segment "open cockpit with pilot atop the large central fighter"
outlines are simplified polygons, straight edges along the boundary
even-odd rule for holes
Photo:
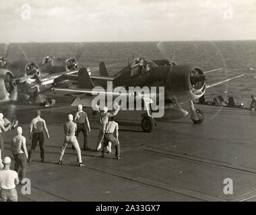
[[[130,62],[131,77],[141,73],[146,73],[153,67],[158,67],[158,65],[152,60],[148,60],[144,57],[136,58]]]

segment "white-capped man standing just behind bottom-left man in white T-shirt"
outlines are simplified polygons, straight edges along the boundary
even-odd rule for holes
[[[14,170],[21,175],[21,181],[26,177],[28,151],[26,138],[22,136],[22,127],[17,128],[17,134],[11,140],[11,150],[15,160]],[[20,174],[21,173],[21,174]]]

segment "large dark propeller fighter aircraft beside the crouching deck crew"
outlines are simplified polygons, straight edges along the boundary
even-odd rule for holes
[[[92,99],[95,97],[97,91],[93,90],[96,82],[102,83],[106,87],[106,81],[112,81],[113,87],[164,87],[164,117],[168,120],[176,120],[183,118],[188,114],[183,110],[181,103],[188,103],[191,111],[191,120],[195,124],[203,122],[203,112],[195,109],[193,101],[199,99],[204,95],[205,90],[216,85],[225,83],[232,79],[243,76],[230,77],[222,81],[210,83],[206,81],[206,74],[221,69],[213,69],[211,71],[203,72],[197,67],[190,65],[177,65],[170,60],[147,60],[146,58],[136,58],[129,62],[127,67],[119,71],[114,77],[108,76],[108,71],[104,62],[100,62],[100,76],[89,76],[86,69],[79,69],[77,80],[77,88],[75,89],[62,89],[53,88],[55,94],[71,95],[75,97],[72,105],[81,103],[86,107],[92,107]],[[75,77],[72,77],[73,80]],[[112,94],[114,92],[98,91],[99,94]],[[117,93],[118,94],[118,93]],[[136,97],[136,93],[127,93],[127,97]],[[147,95],[148,96],[148,95]],[[158,95],[154,95],[158,97]],[[156,126],[153,118],[152,109],[148,99],[144,99],[142,95],[141,100],[146,107],[146,114],[142,114],[141,127],[145,132],[151,132]]]

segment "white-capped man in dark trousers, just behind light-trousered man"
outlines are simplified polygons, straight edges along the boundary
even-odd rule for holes
[[[88,147],[88,132],[91,131],[90,129],[90,123],[88,120],[88,116],[86,112],[83,111],[83,106],[78,105],[77,106],[77,113],[75,114],[75,122],[77,123],[77,130],[75,132],[75,136],[79,136],[80,132],[83,132],[84,134],[84,150],[90,150]]]

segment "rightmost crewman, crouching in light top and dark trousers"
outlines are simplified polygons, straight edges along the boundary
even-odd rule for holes
[[[104,154],[106,151],[106,147],[108,146],[108,142],[112,142],[116,148],[116,158],[118,160],[122,159],[120,156],[120,143],[119,143],[119,125],[117,122],[113,121],[113,118],[110,118],[110,121],[106,124],[105,133],[104,133],[104,142],[102,149],[102,158],[104,158]],[[116,136],[116,137],[115,137]]]

